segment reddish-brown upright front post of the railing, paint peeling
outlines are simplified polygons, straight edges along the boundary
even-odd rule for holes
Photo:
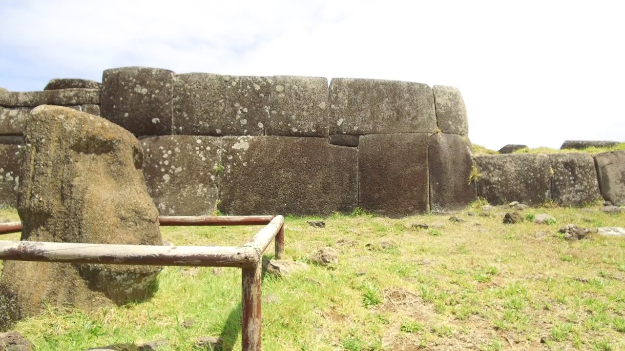
[[[243,320],[242,350],[261,351],[261,282],[262,265],[242,269]]]

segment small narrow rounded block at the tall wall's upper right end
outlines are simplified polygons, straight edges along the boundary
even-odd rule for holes
[[[469,121],[464,99],[456,87],[434,86],[434,106],[436,106],[436,123],[443,133],[469,134]]]

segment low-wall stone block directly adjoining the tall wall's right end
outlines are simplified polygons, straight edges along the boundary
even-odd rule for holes
[[[519,201],[540,205],[551,199],[551,162],[544,154],[475,157],[477,194],[493,205]]]

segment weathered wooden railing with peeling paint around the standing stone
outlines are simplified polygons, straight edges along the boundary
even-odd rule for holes
[[[284,256],[284,218],[277,216],[159,217],[161,225],[265,225],[239,247],[79,244],[0,240],[0,259],[83,264],[184,265],[242,269],[242,349],[261,350],[262,254],[273,240]],[[20,222],[0,224],[0,234],[19,232]]]

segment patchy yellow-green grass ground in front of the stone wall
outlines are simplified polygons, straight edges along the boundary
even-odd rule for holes
[[[528,218],[547,213],[557,221],[502,224],[505,206],[482,216],[481,205],[456,215],[465,222],[337,214],[317,229],[306,224],[312,218],[287,218],[287,259],[306,261],[331,246],[339,264],[264,277],[263,349],[625,350],[625,239],[591,234],[567,242],[557,234],[569,223],[622,227],[625,213],[527,209]],[[17,216],[4,210],[2,218]],[[417,223],[437,225],[412,227]],[[162,233],[178,245],[237,245],[258,229]],[[149,301],[91,313],[47,309],[14,330],[36,350],[161,339],[168,345],[159,350],[189,350],[202,335],[221,336],[226,349],[239,350],[240,279],[239,269],[166,267]],[[195,322],[187,326],[189,320]]]

